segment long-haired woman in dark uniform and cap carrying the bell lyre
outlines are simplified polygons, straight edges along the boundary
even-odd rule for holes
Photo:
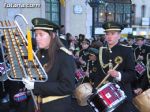
[[[71,112],[71,94],[75,88],[75,66],[72,54],[63,47],[56,35],[56,24],[34,18],[35,37],[39,48],[39,60],[44,65],[48,81],[31,82],[23,79],[25,87],[41,97],[41,112]],[[34,112],[33,101],[29,101],[28,112]]]

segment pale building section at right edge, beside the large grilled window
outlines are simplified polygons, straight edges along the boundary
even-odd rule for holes
[[[132,28],[134,35],[150,38],[149,0],[132,0]]]

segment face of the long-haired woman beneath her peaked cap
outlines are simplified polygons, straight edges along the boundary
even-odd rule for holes
[[[36,42],[37,42],[38,48],[40,48],[40,49],[48,49],[49,48],[51,37],[47,32],[45,32],[43,30],[36,30],[35,37],[36,37]]]

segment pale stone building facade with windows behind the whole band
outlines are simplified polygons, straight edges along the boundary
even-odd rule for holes
[[[126,25],[123,33],[144,34],[149,36],[150,1],[148,0],[104,0],[95,10],[94,34],[103,34],[101,25],[105,21],[117,21]],[[65,32],[73,36],[85,34],[91,38],[93,26],[92,7],[88,0],[1,0],[0,20],[13,20],[16,14],[23,14],[30,27],[34,17],[47,18],[65,26]],[[17,19],[22,30],[27,25]],[[133,29],[133,30],[132,30]]]

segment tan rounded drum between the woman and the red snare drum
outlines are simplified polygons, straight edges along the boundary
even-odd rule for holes
[[[88,105],[87,100],[92,95],[93,87],[91,83],[80,84],[74,92],[75,98],[80,106]]]

